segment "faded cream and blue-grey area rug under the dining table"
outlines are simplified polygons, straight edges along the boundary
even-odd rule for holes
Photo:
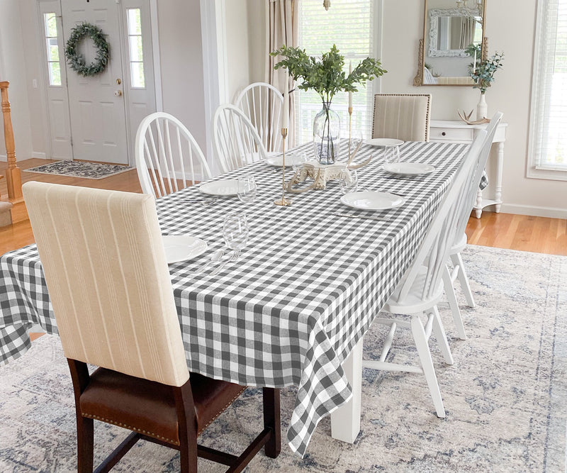
[[[464,308],[467,340],[456,339],[441,307],[455,363],[432,356],[447,418],[439,419],[425,379],[365,369],[361,433],[354,445],[330,437],[324,418],[302,460],[283,445],[261,452],[247,472],[565,472],[567,419],[567,257],[468,247],[464,252],[477,307]],[[461,306],[464,299],[461,298]],[[371,328],[366,357],[385,333]],[[391,360],[415,360],[401,333]],[[295,390],[281,390],[282,430]],[[247,389],[202,443],[240,453],[262,429],[258,389]],[[96,423],[95,462],[125,430]],[[282,438],[285,438],[282,436]],[[44,335],[26,355],[0,368],[0,471],[76,471],[71,380],[57,337]],[[176,472],[179,455],[139,443],[116,472]],[[225,467],[199,460],[199,472]]]

